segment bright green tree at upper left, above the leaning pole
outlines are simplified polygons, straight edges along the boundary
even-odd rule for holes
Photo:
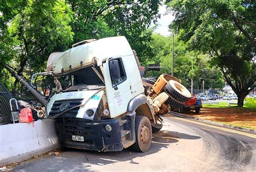
[[[14,62],[17,74],[28,71],[45,70],[46,60],[53,51],[62,51],[72,42],[72,11],[64,1],[29,1],[26,6],[10,20],[6,30],[14,53],[5,49],[10,63]],[[15,82],[15,85],[17,80]]]

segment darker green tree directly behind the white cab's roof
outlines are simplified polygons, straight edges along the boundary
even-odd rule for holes
[[[151,54],[149,42],[153,20],[156,22],[159,1],[68,1],[75,19],[74,42],[110,36],[125,36],[144,63]]]

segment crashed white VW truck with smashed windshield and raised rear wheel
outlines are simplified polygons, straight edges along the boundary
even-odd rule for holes
[[[52,53],[47,72],[56,92],[46,102],[46,116],[56,121],[64,147],[120,151],[132,146],[146,152],[161,114],[182,107],[190,92],[180,80],[162,74],[142,78],[143,67],[125,37],[84,40]]]

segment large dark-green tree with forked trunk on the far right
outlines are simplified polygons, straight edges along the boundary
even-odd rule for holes
[[[176,17],[171,29],[190,49],[210,54],[243,106],[256,81],[254,1],[174,0],[167,5]]]

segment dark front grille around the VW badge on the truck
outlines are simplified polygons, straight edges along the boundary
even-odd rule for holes
[[[55,116],[59,113],[62,113],[62,111],[60,111],[59,108],[60,108],[60,105],[62,105],[63,102],[65,102],[65,101],[68,102],[68,108],[66,108],[66,109],[70,109],[72,107],[82,104],[83,99],[57,100],[53,103],[53,105],[51,107],[51,111],[49,113],[49,116]],[[64,117],[76,117],[76,115],[79,111],[79,108],[80,107],[76,107],[76,108],[71,109],[70,111],[65,112],[63,114]]]

